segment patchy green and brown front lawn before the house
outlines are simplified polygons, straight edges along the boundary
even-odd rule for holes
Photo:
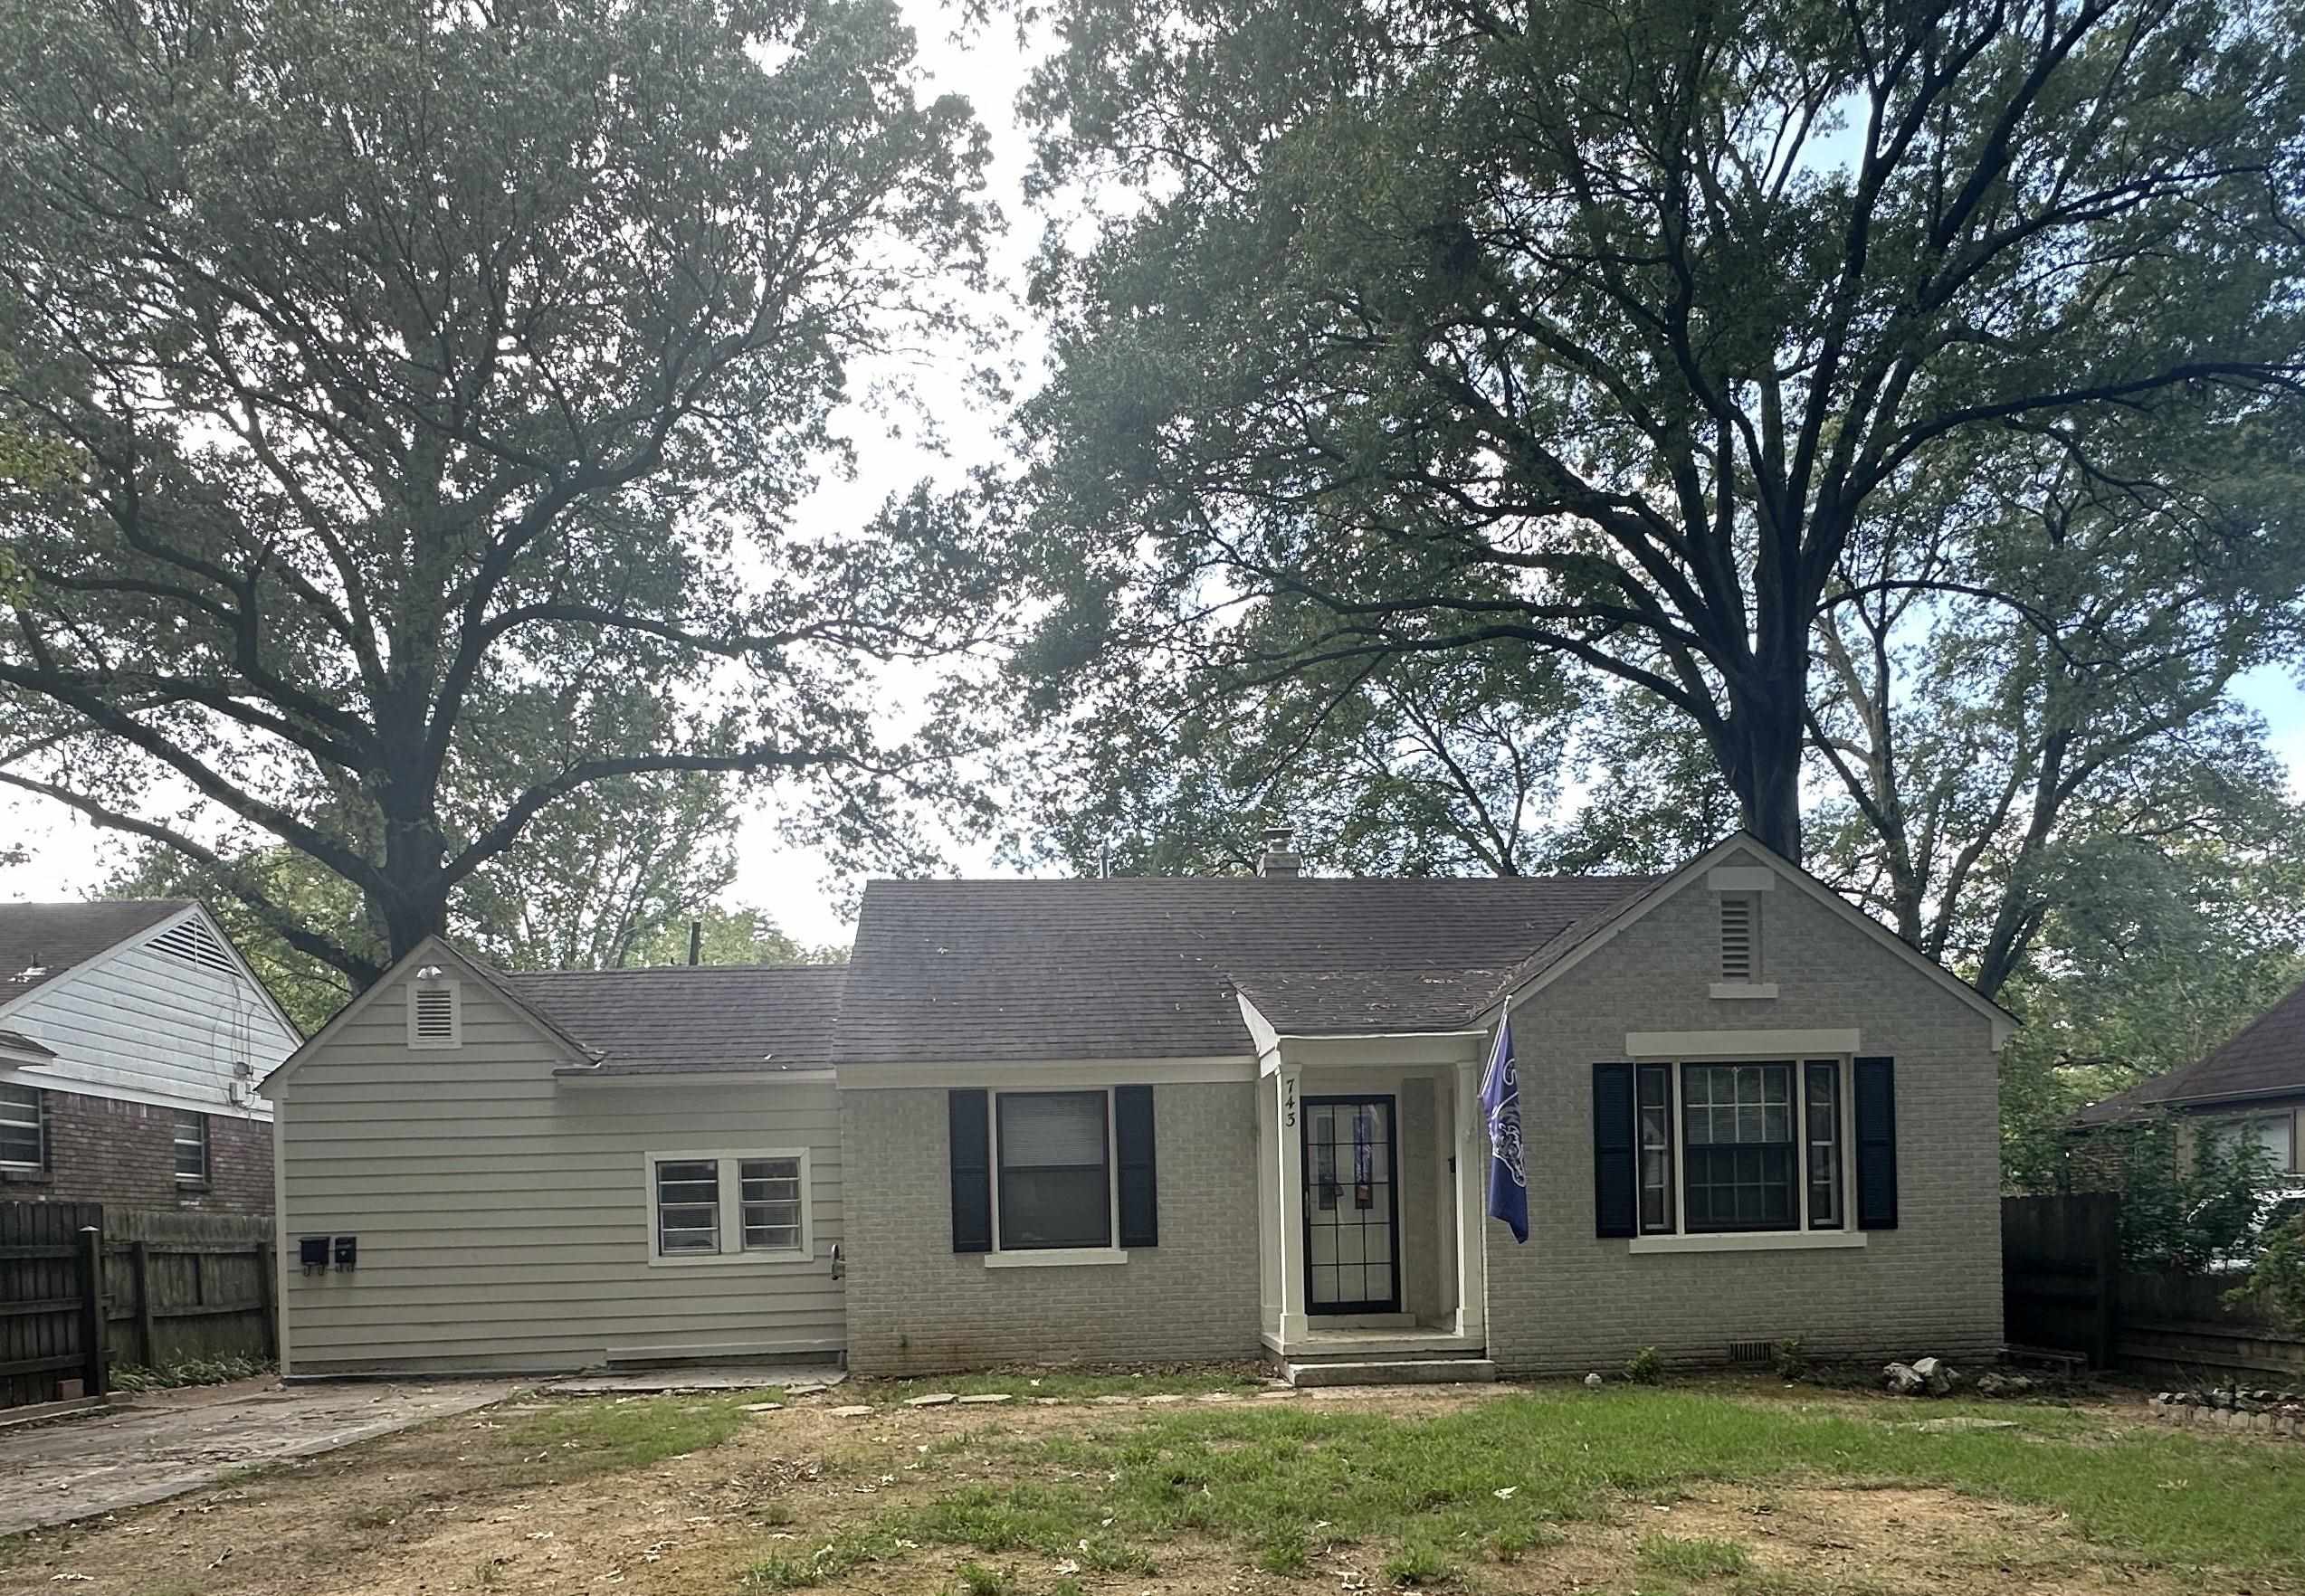
[[[1037,1377],[514,1403],[0,1543],[0,1596],[2305,1591],[2305,1446],[2109,1405]],[[1187,1400],[1083,1400],[1148,1389]],[[2017,1428],[1915,1428],[1962,1414]]]

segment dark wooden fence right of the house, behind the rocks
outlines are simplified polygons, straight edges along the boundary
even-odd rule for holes
[[[2001,1200],[2003,1336],[2176,1380],[2305,1382],[2305,1338],[2224,1301],[2245,1274],[2121,1267],[2121,1198]]]

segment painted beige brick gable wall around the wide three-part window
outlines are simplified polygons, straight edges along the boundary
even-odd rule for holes
[[[2001,1343],[2001,1145],[1992,1023],[1791,882],[1763,898],[1775,1000],[1708,995],[1717,905],[1703,880],[1544,988],[1514,1018],[1531,1237],[1496,1221],[1489,1354],[1507,1373],[1614,1373],[1653,1345],[1720,1361],[1800,1336],[1837,1356],[1975,1359]],[[1593,1064],[1625,1032],[1858,1027],[1897,1059],[1899,1228],[1865,1248],[1630,1253],[1593,1234]]]

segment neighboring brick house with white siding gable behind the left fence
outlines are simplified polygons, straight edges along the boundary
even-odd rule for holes
[[[270,1214],[295,1046],[198,903],[0,903],[0,1202]]]

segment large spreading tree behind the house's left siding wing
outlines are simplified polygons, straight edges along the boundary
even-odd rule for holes
[[[869,663],[980,576],[793,523],[975,343],[984,136],[892,5],[5,0],[0,164],[0,435],[69,461],[0,500],[0,783],[307,854],[369,947],[226,884],[357,986],[592,783],[906,778]]]

